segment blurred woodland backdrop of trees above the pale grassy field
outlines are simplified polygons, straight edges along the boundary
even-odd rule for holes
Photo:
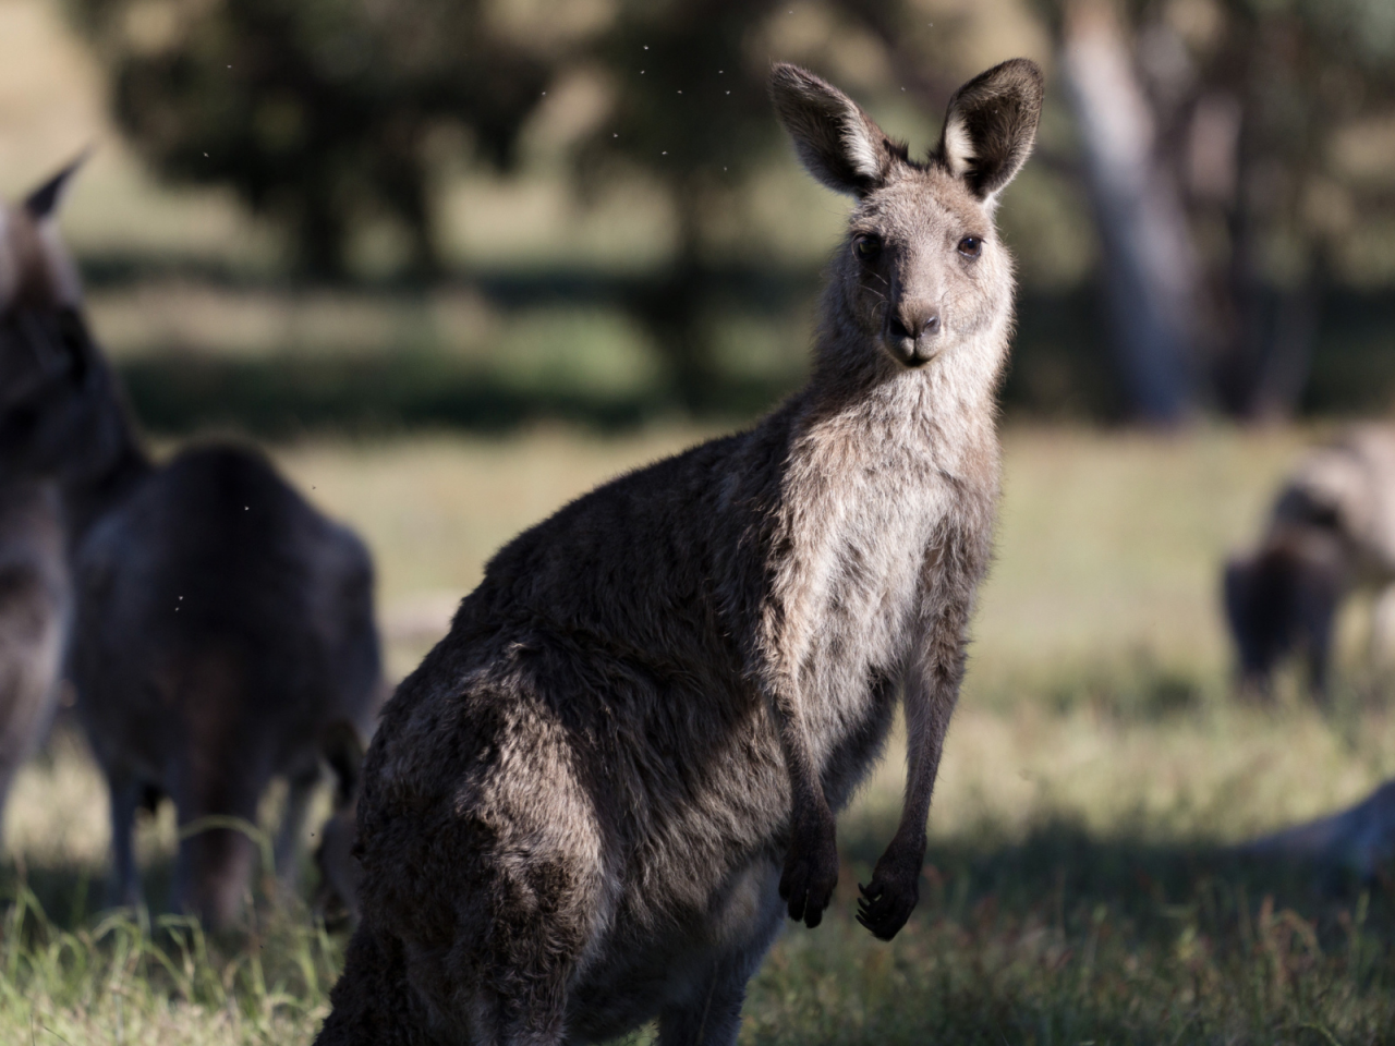
[[[4,0],[0,170],[93,148],[66,230],[156,430],[742,417],[845,213],[770,61],[923,152],[1013,54],[1010,416],[1389,406],[1388,0]]]

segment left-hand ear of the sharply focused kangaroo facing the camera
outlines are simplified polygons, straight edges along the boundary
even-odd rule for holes
[[[770,70],[770,99],[805,169],[834,192],[862,197],[886,181],[897,146],[836,86],[777,63]]]

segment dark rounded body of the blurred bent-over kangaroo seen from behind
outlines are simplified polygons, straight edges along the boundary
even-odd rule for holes
[[[259,453],[205,446],[96,522],[75,577],[78,707],[113,787],[153,784],[186,824],[254,820],[269,778],[285,775],[278,861],[293,874],[321,734],[338,720],[367,732],[381,692],[363,543]],[[250,842],[218,828],[186,845],[181,893],[227,922]]]

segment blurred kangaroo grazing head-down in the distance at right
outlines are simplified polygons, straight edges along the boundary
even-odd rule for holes
[[[1302,651],[1327,695],[1332,626],[1355,590],[1375,596],[1371,657],[1395,658],[1395,428],[1357,425],[1309,452],[1285,481],[1260,547],[1225,568],[1225,608],[1243,692],[1269,697]]]

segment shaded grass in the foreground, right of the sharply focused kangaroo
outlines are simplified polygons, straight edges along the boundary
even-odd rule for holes
[[[1387,890],[1208,844],[1046,823],[930,847],[889,944],[858,926],[891,826],[848,826],[823,926],[791,926],[753,982],[742,1042],[1387,1043]]]

